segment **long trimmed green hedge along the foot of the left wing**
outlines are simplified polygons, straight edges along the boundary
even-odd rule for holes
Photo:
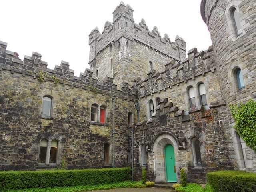
[[[4,171],[0,172],[0,187],[1,189],[23,189],[109,184],[129,180],[130,173],[131,168]]]

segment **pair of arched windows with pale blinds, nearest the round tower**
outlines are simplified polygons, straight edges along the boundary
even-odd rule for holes
[[[207,99],[206,99],[206,91],[205,86],[203,83],[201,83],[198,86],[199,90],[199,98],[200,98],[200,105],[207,105]],[[196,98],[195,98],[195,91],[193,87],[190,87],[188,89],[188,97],[189,97],[189,106],[190,108],[196,106]]]

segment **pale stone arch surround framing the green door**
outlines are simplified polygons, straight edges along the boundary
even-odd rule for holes
[[[174,135],[174,134],[173,134]],[[154,139],[152,152],[154,154],[154,176],[156,183],[166,183],[166,165],[165,165],[165,153],[164,149],[167,144],[171,144],[174,148],[175,159],[178,157],[178,144],[172,134],[162,134]],[[176,170],[179,169],[176,164]],[[178,175],[178,174],[176,174]]]

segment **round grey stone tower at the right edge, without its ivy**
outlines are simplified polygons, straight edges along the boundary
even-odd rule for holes
[[[256,0],[202,0],[201,15],[212,39],[237,168],[255,172],[256,153],[232,128],[234,119],[229,104],[256,98]]]

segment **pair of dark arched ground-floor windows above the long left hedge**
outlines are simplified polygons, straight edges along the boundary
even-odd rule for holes
[[[51,142],[49,142],[47,139],[42,139],[40,142],[40,152],[39,152],[38,163],[47,164],[47,165],[49,163],[56,164],[57,148],[58,148],[57,140],[52,140]]]

